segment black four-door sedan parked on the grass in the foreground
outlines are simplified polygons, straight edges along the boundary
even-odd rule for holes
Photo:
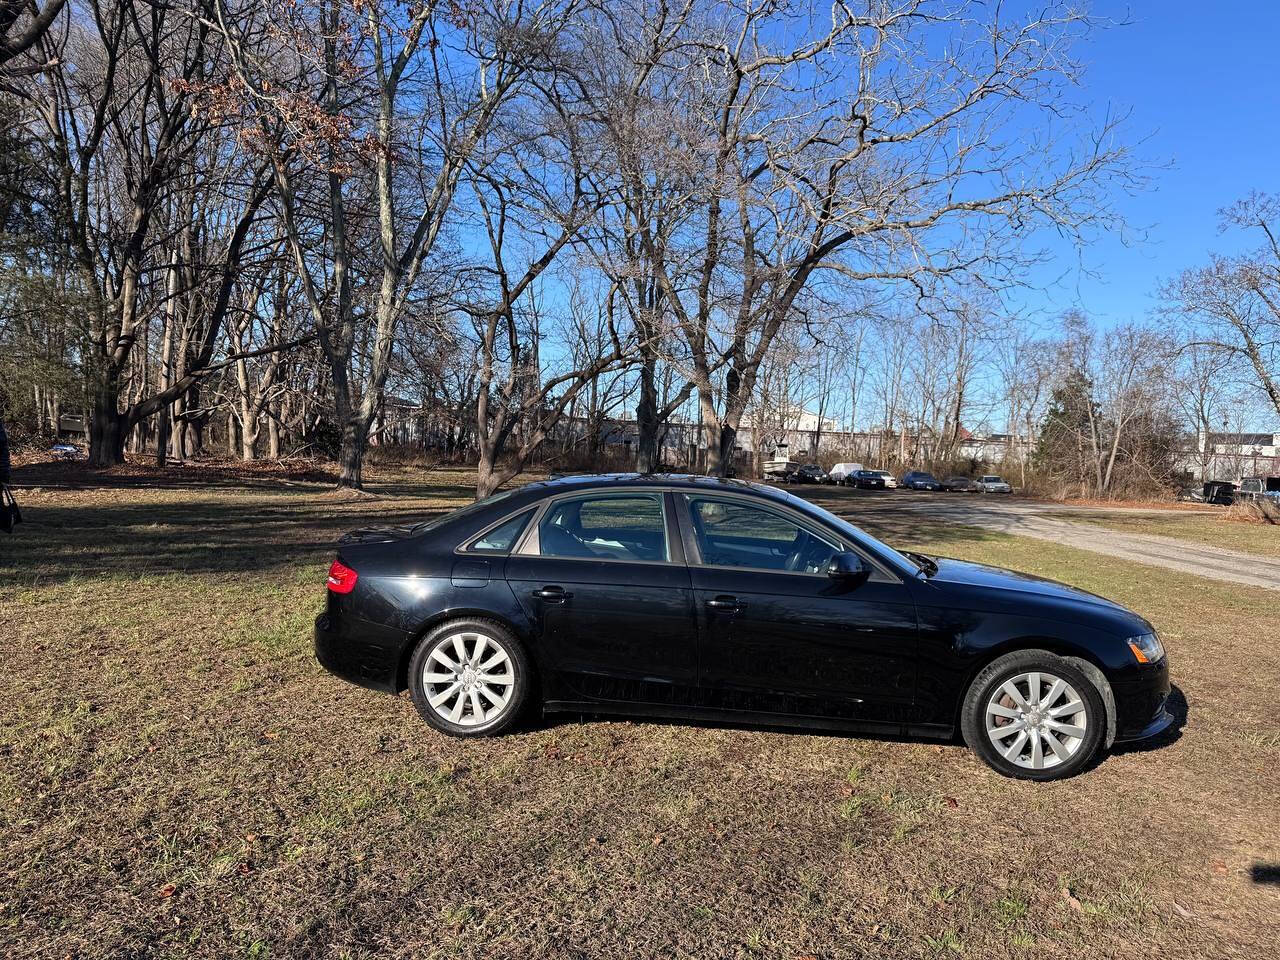
[[[708,477],[564,477],[347,534],[315,641],[457,736],[529,708],[959,730],[998,772],[1053,780],[1172,719],[1138,614]]]

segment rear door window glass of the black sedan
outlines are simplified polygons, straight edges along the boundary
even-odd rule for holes
[[[660,494],[580,497],[561,500],[538,525],[543,557],[668,561]]]

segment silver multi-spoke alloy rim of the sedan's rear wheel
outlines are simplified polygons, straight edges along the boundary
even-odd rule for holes
[[[516,671],[500,643],[463,631],[442,637],[422,666],[426,703],[461,727],[493,723],[511,705]]]

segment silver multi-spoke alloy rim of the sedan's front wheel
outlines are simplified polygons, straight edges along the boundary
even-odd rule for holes
[[[1066,763],[1087,736],[1084,699],[1061,677],[1029,671],[1010,677],[987,700],[987,737],[1009,763],[1041,771]]]

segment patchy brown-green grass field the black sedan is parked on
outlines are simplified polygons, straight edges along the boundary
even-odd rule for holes
[[[468,484],[24,498],[0,540],[0,956],[1275,955],[1274,594],[868,524],[1161,630],[1180,735],[1061,783],[959,745],[756,728],[457,741],[324,673],[310,628],[337,534]]]

